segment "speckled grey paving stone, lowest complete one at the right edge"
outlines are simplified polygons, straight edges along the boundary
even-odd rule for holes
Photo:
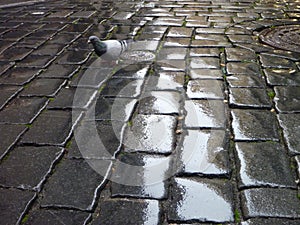
[[[255,188],[242,192],[243,210],[250,217],[299,218],[297,191],[291,189]]]

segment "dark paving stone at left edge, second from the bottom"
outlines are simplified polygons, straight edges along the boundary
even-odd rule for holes
[[[62,154],[57,147],[17,147],[0,165],[0,184],[39,190]]]

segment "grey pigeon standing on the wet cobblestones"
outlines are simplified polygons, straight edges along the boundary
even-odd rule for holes
[[[117,60],[127,50],[132,40],[105,40],[101,41],[97,36],[90,36],[89,43],[94,47],[96,54],[104,60]]]

